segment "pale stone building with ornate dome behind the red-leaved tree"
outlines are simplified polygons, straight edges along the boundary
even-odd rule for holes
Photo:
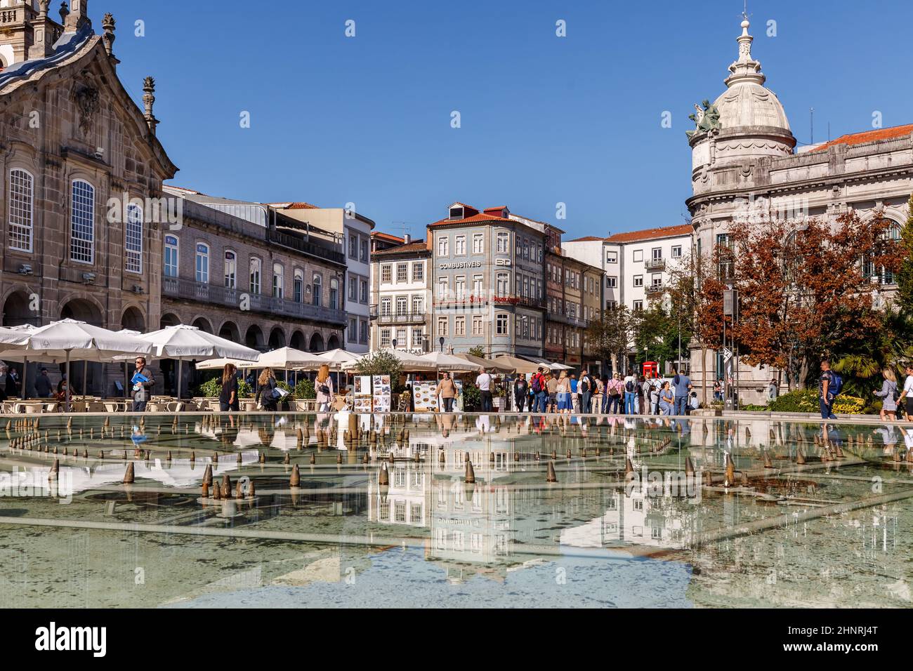
[[[913,192],[913,124],[844,135],[796,150],[782,103],[764,87],[761,63],[751,55],[747,18],[741,23],[738,58],[729,65],[726,90],[711,104],[707,100],[692,119],[691,183],[687,208],[694,228],[694,251],[708,254],[727,244],[734,221],[796,219],[802,216],[833,221],[855,210],[862,216],[882,211],[899,236]],[[894,279],[872,274],[874,300],[896,289]],[[708,351],[702,361],[700,345],[691,349],[691,379],[712,399],[715,379],[725,364],[722,352]],[[777,371],[740,364],[740,403],[763,403]],[[704,396],[699,392],[701,398]]]

